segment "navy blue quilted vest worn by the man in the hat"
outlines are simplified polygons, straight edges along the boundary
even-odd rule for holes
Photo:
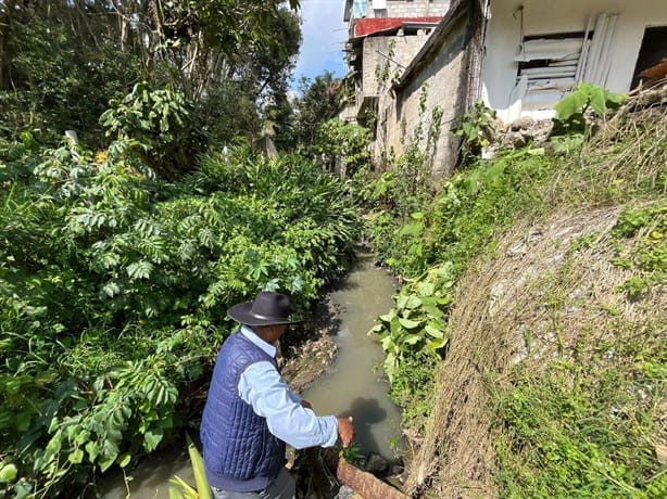
[[[285,443],[239,397],[239,376],[251,363],[276,360],[237,332],[217,357],[200,436],[212,487],[248,492],[266,488],[285,466]],[[276,366],[277,369],[277,366]]]

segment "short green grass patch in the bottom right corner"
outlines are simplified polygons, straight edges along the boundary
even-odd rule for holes
[[[551,361],[543,372],[516,369],[495,407],[503,497],[665,497],[654,456],[655,404],[667,378],[665,359],[654,357],[664,353],[650,333],[664,323],[642,324],[649,334],[639,337],[619,329],[624,341],[579,361]]]

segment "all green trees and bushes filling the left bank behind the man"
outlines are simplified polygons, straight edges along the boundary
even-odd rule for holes
[[[78,495],[197,424],[228,306],[305,315],[353,256],[313,159],[366,169],[367,133],[320,133],[331,74],[288,101],[298,7],[0,2],[0,497]]]

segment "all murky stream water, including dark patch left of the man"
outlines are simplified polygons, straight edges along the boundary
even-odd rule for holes
[[[401,414],[387,398],[382,348],[366,333],[375,318],[391,308],[395,290],[394,279],[373,265],[372,255],[361,254],[329,294],[339,310],[337,361],[303,394],[318,414],[352,415],[364,453],[377,452],[388,460],[397,450],[390,444],[400,434]],[[126,474],[127,478],[117,473],[105,479],[104,499],[168,498],[175,475],[194,485],[185,443],[151,456]]]

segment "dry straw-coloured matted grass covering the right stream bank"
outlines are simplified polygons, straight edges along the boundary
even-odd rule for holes
[[[502,383],[518,361],[539,369],[543,359],[571,350],[584,328],[596,331],[591,343],[601,341],[608,334],[605,309],[628,316],[665,310],[664,294],[631,304],[613,291],[629,277],[609,264],[614,250],[604,244],[618,213],[613,207],[557,214],[544,223],[517,227],[503,239],[495,259],[464,278],[433,415],[412,463],[413,491],[436,481],[442,489],[433,497],[494,497],[489,384]],[[587,235],[599,244],[572,253],[571,243]],[[548,305],[554,285],[565,293],[562,312]]]

